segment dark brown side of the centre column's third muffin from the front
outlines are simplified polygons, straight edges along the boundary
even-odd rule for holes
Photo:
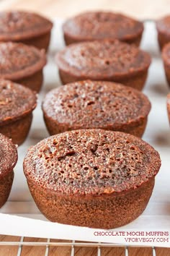
[[[98,77],[77,77],[73,74],[70,74],[68,72],[65,72],[61,69],[59,69],[59,75],[61,77],[61,82],[63,83],[63,85],[66,85],[67,83],[70,82],[77,82],[77,81],[81,81],[81,80],[100,80],[100,81],[110,81],[110,82],[119,82],[122,85],[127,85],[130,86],[131,88],[135,88],[137,90],[143,90],[143,87],[145,85],[146,82],[146,78],[148,75],[148,70],[144,70],[143,72],[140,72],[136,75],[133,75],[131,77],[125,77],[125,78],[115,78],[115,77],[103,77],[101,79],[99,79]]]

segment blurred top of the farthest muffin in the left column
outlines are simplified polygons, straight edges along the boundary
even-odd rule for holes
[[[21,40],[48,33],[50,20],[31,12],[0,12],[0,40]]]

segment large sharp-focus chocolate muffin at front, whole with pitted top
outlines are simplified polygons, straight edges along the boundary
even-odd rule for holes
[[[37,207],[59,223],[114,229],[145,210],[161,166],[138,137],[80,129],[30,148],[24,174]]]

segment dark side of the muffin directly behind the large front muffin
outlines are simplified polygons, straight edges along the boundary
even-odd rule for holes
[[[46,125],[50,135],[57,135],[58,133],[71,131],[73,129],[99,128],[99,129],[106,129],[106,130],[111,130],[111,131],[126,132],[126,133],[130,133],[130,135],[134,135],[136,137],[142,137],[143,133],[145,132],[146,124],[147,124],[147,117],[146,117],[138,125],[135,125],[135,126],[127,125],[126,127],[122,127],[120,129],[114,129],[114,127],[112,127],[112,126],[110,126],[110,127],[69,127],[68,124],[58,123],[58,121],[50,118],[45,113],[43,114],[43,116],[44,116],[45,125]]]

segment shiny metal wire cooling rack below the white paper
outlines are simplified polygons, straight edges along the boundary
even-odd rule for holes
[[[45,256],[49,255],[50,247],[70,247],[71,256],[75,255],[75,247],[97,247],[97,256],[102,256],[102,247],[124,247],[125,256],[129,255],[129,247],[122,244],[75,242],[74,240],[72,242],[50,242],[50,239],[47,239],[47,242],[24,242],[24,236],[21,237],[19,242],[0,242],[0,246],[17,246],[17,256],[21,256],[23,246],[46,247]],[[152,247],[152,255],[156,256],[155,247]]]

